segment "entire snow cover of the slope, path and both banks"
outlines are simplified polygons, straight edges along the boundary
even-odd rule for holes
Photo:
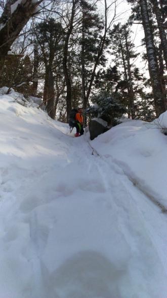
[[[16,93],[0,95],[0,296],[166,298],[167,215],[149,195],[167,205],[167,137],[133,120],[72,138]]]

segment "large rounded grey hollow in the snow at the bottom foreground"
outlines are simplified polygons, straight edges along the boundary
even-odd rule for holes
[[[120,297],[119,283],[126,269],[116,268],[96,251],[83,251],[67,259],[56,271],[44,271],[49,298]]]

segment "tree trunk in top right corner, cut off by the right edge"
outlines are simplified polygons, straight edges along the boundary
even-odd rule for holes
[[[159,30],[159,37],[160,37],[160,41],[161,41],[161,47],[162,47],[163,56],[164,56],[166,69],[167,69],[167,39],[166,39],[166,32],[163,27],[162,14],[161,14],[160,8],[158,6],[157,0],[151,0],[151,2],[153,4],[154,13],[156,16],[156,21],[157,21],[158,30]]]

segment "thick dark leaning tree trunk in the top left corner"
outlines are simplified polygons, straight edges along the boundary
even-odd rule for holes
[[[0,30],[0,62],[4,60],[8,54],[13,42],[18,37],[20,31],[33,15],[36,7],[42,0],[32,2],[32,0],[25,0],[18,4],[17,8],[11,15],[11,5],[8,0],[5,10],[0,18],[0,25],[3,27]],[[15,4],[13,1],[12,4]]]

